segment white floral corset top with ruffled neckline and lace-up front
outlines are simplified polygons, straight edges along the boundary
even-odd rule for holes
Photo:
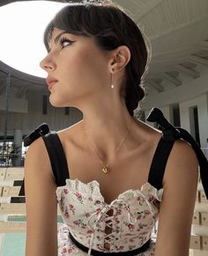
[[[89,248],[88,255],[92,249],[126,252],[144,245],[157,221],[162,193],[163,189],[147,182],[140,190],[122,192],[108,204],[95,180],[85,184],[66,179],[66,184],[56,189],[63,222],[72,237]]]

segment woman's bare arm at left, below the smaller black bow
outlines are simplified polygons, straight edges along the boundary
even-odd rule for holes
[[[25,191],[26,256],[56,256],[56,183],[41,138],[26,153]]]

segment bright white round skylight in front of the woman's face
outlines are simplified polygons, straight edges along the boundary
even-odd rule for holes
[[[47,74],[39,66],[47,54],[43,32],[64,5],[26,1],[0,7],[0,60],[21,72],[45,78]]]

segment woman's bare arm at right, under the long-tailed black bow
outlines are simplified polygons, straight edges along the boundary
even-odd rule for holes
[[[197,195],[198,162],[194,150],[179,140],[169,155],[160,202],[155,256],[188,256]]]

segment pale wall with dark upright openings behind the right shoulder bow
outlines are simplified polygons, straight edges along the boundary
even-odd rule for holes
[[[145,110],[145,117],[153,107],[160,108],[167,120],[173,124],[172,105],[175,103],[178,103],[180,107],[181,126],[190,133],[193,133],[191,129],[193,120],[189,117],[189,108],[197,106],[200,143],[201,147],[207,147],[208,72],[204,72],[198,79],[187,81],[180,87],[175,87],[160,94],[148,95],[142,102],[142,108]]]

